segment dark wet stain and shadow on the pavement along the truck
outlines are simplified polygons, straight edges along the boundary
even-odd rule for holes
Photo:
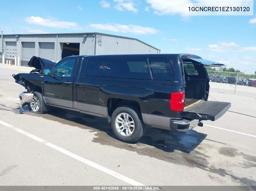
[[[17,113],[19,108],[13,109]],[[25,112],[29,116],[42,117],[44,119],[53,120],[65,125],[79,127],[81,129],[88,129],[91,132],[97,132],[97,136],[92,142],[101,145],[109,145],[116,148],[125,149],[128,151],[137,152],[140,155],[157,158],[162,161],[170,162],[177,165],[188,167],[197,167],[209,173],[214,173],[218,176],[231,177],[235,182],[241,184],[254,186],[255,180],[246,177],[236,177],[231,172],[223,168],[216,168],[212,165],[211,157],[204,154],[204,149],[207,147],[214,148],[212,145],[201,143],[206,134],[191,130],[189,135],[180,134],[161,129],[148,128],[145,135],[134,144],[128,144],[118,141],[112,133],[111,126],[108,125],[107,119],[91,116],[83,113],[77,113],[66,110],[51,110],[48,114],[35,114],[32,112]],[[209,140],[212,141],[212,140]],[[214,141],[215,142],[215,141]],[[224,144],[224,143],[220,143]],[[198,146],[200,145],[200,146]],[[197,151],[194,149],[197,148]],[[238,153],[234,148],[223,147],[218,150],[220,154],[227,157],[243,156],[248,161],[255,161],[254,156]],[[240,163],[241,167],[255,167],[253,163]]]

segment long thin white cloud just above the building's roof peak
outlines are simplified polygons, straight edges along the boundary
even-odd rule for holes
[[[156,34],[160,32],[152,27],[142,27],[138,25],[122,25],[122,24],[90,24],[91,28],[100,30],[109,30],[120,33],[133,33],[133,34]]]

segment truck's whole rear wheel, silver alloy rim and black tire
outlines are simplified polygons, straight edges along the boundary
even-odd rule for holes
[[[133,106],[116,108],[111,116],[111,127],[119,140],[128,143],[138,141],[146,130],[140,111]]]

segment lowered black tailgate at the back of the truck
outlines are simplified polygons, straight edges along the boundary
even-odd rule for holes
[[[183,111],[183,116],[192,119],[215,121],[224,115],[230,107],[231,103],[227,102],[201,100],[199,103],[187,107]]]

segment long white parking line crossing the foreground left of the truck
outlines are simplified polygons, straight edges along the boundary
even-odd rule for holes
[[[71,152],[69,152],[69,151],[67,151],[67,150],[65,150],[63,148],[58,147],[57,145],[54,145],[54,144],[52,144],[50,142],[47,142],[47,141],[45,141],[45,140],[43,140],[43,139],[41,139],[41,138],[39,138],[39,137],[37,137],[35,135],[32,135],[32,134],[30,134],[30,133],[28,133],[26,131],[23,131],[22,129],[14,127],[14,126],[12,126],[12,125],[10,125],[8,123],[5,123],[5,122],[3,122],[1,120],[0,120],[0,124],[4,125],[6,127],[9,127],[10,129],[13,129],[13,130],[15,130],[15,131],[17,131],[17,132],[19,132],[19,133],[21,133],[23,135],[26,135],[26,136],[28,136],[28,137],[30,137],[30,138],[32,138],[32,139],[34,139],[34,140],[36,140],[36,141],[38,141],[40,143],[43,143],[44,145],[47,145],[48,147],[51,147],[51,148],[53,148],[53,149],[55,149],[55,150],[57,150],[59,152],[62,152],[63,154],[66,154],[66,155],[68,155],[68,156],[70,156],[70,157],[72,157],[72,158],[74,158],[74,159],[76,159],[78,161],[81,161],[81,162],[83,162],[83,163],[85,163],[85,164],[87,164],[87,165],[89,165],[91,167],[94,167],[94,168],[96,168],[98,170],[101,170],[102,172],[105,172],[105,173],[107,173],[107,174],[109,174],[109,175],[111,175],[111,176],[113,176],[115,178],[118,178],[119,180],[122,180],[122,181],[124,181],[124,182],[126,182],[128,184],[131,184],[132,186],[145,186],[145,185],[143,185],[143,184],[141,184],[139,182],[136,182],[135,180],[132,180],[132,179],[130,179],[128,177],[125,177],[125,176],[123,176],[123,175],[121,175],[121,174],[119,174],[119,173],[117,173],[117,172],[115,172],[113,170],[110,170],[110,169],[108,169],[106,167],[103,167],[103,166],[101,166],[99,164],[96,164],[96,163],[94,163],[92,161],[89,161],[89,160],[87,160],[85,158],[82,158],[82,157],[80,157],[80,156],[78,156],[78,155],[76,155],[74,153],[71,153]]]

